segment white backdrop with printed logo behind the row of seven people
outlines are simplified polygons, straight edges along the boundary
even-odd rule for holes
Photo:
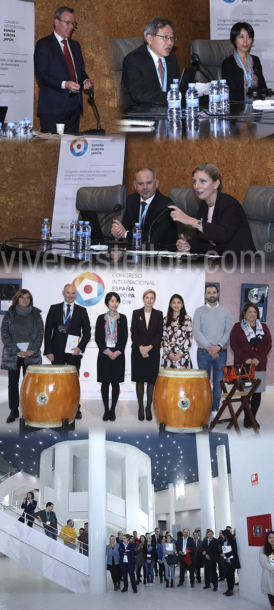
[[[62,290],[68,282],[80,282],[77,288],[76,303],[86,305],[91,322],[91,341],[88,343],[80,368],[80,385],[82,398],[98,398],[100,395],[100,384],[97,383],[97,345],[94,340],[95,324],[99,314],[105,313],[104,299],[107,292],[118,292],[121,297],[119,311],[127,316],[128,331],[132,320],[134,309],[142,307],[142,293],[144,290],[152,289],[156,292],[155,309],[161,309],[166,315],[170,296],[180,293],[183,296],[186,311],[193,318],[194,310],[204,304],[205,272],[181,270],[161,271],[146,268],[136,270],[96,270],[77,273],[72,271],[65,273],[57,269],[55,273],[47,274],[44,270],[35,270],[33,273],[29,268],[23,270],[23,287],[30,290],[33,295],[33,303],[42,310],[43,320],[49,307],[53,303],[63,300]],[[101,293],[100,293],[101,291]],[[42,296],[43,295],[43,296]],[[88,297],[88,298],[87,298]],[[43,348],[43,346],[42,346]],[[197,367],[196,345],[192,345],[191,359],[194,368]],[[125,400],[136,400],[135,384],[130,381],[130,352],[131,340],[128,337],[125,349],[125,382],[121,384],[121,398]],[[44,356],[44,364],[49,364]]]

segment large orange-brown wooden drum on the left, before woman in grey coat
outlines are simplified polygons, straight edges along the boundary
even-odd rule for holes
[[[79,378],[73,365],[27,367],[20,390],[20,404],[27,425],[57,428],[65,419],[72,423],[79,400]]]

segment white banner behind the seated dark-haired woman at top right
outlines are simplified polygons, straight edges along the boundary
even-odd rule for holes
[[[237,21],[250,23],[255,31],[251,54],[262,63],[265,81],[273,86],[273,0],[210,0],[211,40],[230,38],[230,30]]]

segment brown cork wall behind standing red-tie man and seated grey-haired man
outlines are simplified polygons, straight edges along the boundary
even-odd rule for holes
[[[53,0],[35,2],[35,43],[39,38],[51,34],[53,15],[60,3]],[[102,126],[113,130],[116,116],[113,77],[108,58],[105,38],[139,36],[142,38],[144,26],[155,16],[165,16],[175,23],[178,36],[175,51],[180,66],[188,65],[188,43],[192,38],[209,38],[209,0],[192,0],[181,3],[145,2],[128,0],[126,4],[118,0],[104,0],[99,4],[90,0],[73,0],[69,5],[75,10],[79,27],[73,38],[80,42],[88,76],[94,79],[96,105],[101,115]],[[34,127],[40,129],[36,115],[38,82],[34,86]],[[96,127],[97,119],[86,94],[83,96],[83,117],[80,130]]]

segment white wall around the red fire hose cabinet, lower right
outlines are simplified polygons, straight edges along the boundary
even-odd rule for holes
[[[272,515],[274,526],[273,433],[264,439],[229,434],[231,478],[234,497],[236,539],[241,563],[240,595],[253,603],[269,608],[269,600],[261,594],[262,570],[259,565],[261,547],[248,546],[247,517]],[[251,475],[258,473],[258,485],[251,486]]]

